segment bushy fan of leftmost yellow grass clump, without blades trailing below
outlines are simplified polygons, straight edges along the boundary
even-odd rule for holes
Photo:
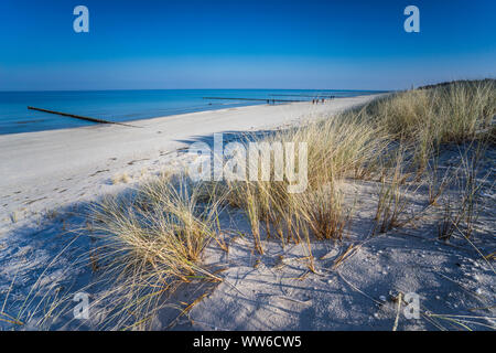
[[[217,204],[198,204],[198,190],[183,178],[160,179],[131,196],[108,197],[95,208],[95,232],[107,254],[126,268],[153,268],[166,278],[202,272],[198,259],[215,237]]]

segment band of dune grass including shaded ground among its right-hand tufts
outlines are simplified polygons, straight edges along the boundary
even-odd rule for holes
[[[180,174],[150,181],[126,197],[107,197],[90,220],[103,242],[101,277],[116,282],[108,296],[121,298],[112,301],[106,328],[145,329],[161,296],[177,284],[220,281],[203,266],[202,253],[207,246],[228,252],[229,232],[219,217],[231,211],[245,216],[251,234],[244,236],[255,254],[263,254],[268,238],[301,243],[311,270],[314,242],[339,244],[347,236],[357,205],[346,185],[355,182],[377,191],[362,200],[375,207],[375,226],[364,237],[429,214],[439,238],[461,233],[470,239],[487,178],[481,162],[496,141],[495,115],[495,81],[391,93],[335,117],[250,137],[308,143],[309,183],[302,193],[288,193],[288,180],[193,182]],[[456,162],[441,168],[448,150],[456,151]],[[427,201],[412,208],[408,195],[419,192]]]

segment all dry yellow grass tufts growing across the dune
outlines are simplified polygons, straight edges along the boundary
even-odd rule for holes
[[[351,222],[353,210],[345,205],[339,190],[343,181],[379,181],[379,232],[402,226],[400,216],[408,207],[402,185],[428,183],[429,204],[436,206],[451,179],[445,175],[439,181],[433,176],[429,168],[433,157],[444,143],[494,141],[495,114],[495,84],[472,82],[397,93],[359,110],[261,138],[250,137],[250,141],[265,143],[305,142],[306,190],[289,193],[287,179],[198,184],[161,179],[125,202],[107,200],[97,207],[97,229],[107,242],[100,263],[127,278],[133,311],[148,315],[154,308],[150,298],[157,300],[155,295],[170,289],[174,281],[216,279],[202,267],[201,255],[211,239],[222,246],[216,220],[219,210],[228,205],[245,212],[258,253],[263,253],[263,236],[276,236],[282,245],[304,242],[312,268],[311,239],[341,240]],[[273,161],[270,168],[273,175]],[[473,173],[467,175],[470,179]],[[463,215],[453,216],[450,208],[451,218],[445,222],[453,217],[473,221],[477,188],[467,188]]]

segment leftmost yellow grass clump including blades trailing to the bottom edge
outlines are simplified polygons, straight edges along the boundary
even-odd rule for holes
[[[142,328],[159,310],[162,295],[180,282],[217,281],[203,268],[205,246],[217,239],[218,205],[203,204],[201,189],[184,178],[149,182],[132,195],[107,197],[94,207],[101,281],[115,281],[99,303],[111,315],[104,324]],[[109,298],[111,303],[104,304]],[[111,307],[111,309],[107,309]]]

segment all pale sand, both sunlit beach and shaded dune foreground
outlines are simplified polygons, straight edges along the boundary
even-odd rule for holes
[[[188,160],[181,149],[209,139],[214,132],[294,125],[374,97],[195,113],[132,121],[133,128],[95,126],[0,137],[0,303],[7,298],[4,313],[22,321],[0,320],[0,330],[120,328],[106,317],[106,304],[118,306],[112,291],[115,278],[100,278],[105,275],[98,272],[98,256],[93,258],[99,240],[88,225],[88,201],[139,185],[151,174],[179,170]],[[442,168],[451,165],[459,152],[445,150]],[[484,170],[493,167],[495,158],[494,149],[487,153]],[[487,184],[493,185],[494,179]],[[256,254],[250,237],[237,235],[250,234],[244,213],[225,210],[218,218],[220,228],[236,229],[228,252],[211,242],[202,255],[202,266],[218,269],[222,281],[197,279],[179,285],[177,290],[168,292],[157,318],[147,327],[448,330],[459,328],[452,318],[462,318],[460,322],[468,320],[476,329],[494,330],[494,268],[473,248],[488,254],[494,247],[492,188],[483,188],[484,195],[490,193],[490,197],[482,204],[482,235],[473,247],[463,238],[451,243],[438,239],[429,214],[424,224],[370,237],[377,183],[356,181],[343,188],[346,197],[357,204],[353,221],[342,243],[312,244],[313,271],[304,260],[309,250],[304,243],[283,247],[272,238],[263,239],[265,254]],[[409,191],[406,196],[413,208],[428,199],[422,190]],[[90,296],[89,320],[73,317],[73,295],[80,291]],[[66,297],[61,300],[60,293]],[[399,293],[419,296],[418,319],[398,311]],[[41,311],[56,300],[65,307],[61,307],[61,317],[52,320]],[[186,307],[188,311],[181,310]],[[31,308],[43,310],[31,312]]]

